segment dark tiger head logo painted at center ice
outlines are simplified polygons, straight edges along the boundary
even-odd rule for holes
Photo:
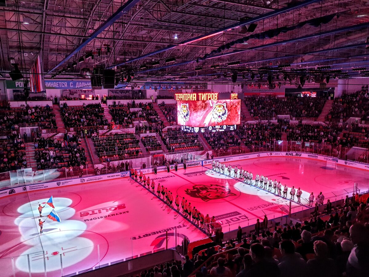
[[[187,188],[184,192],[193,198],[200,198],[205,202],[236,195],[229,188],[216,184],[210,184],[210,186],[195,185],[192,188]]]

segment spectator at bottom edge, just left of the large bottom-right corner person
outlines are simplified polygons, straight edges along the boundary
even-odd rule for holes
[[[328,258],[327,243],[317,240],[314,242],[315,259],[307,261],[309,276],[337,277],[337,266],[334,260]]]

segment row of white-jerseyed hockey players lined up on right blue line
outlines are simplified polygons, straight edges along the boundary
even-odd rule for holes
[[[219,162],[219,161],[215,161],[213,160],[213,162],[211,163],[211,166],[213,167],[213,170],[215,172],[219,172],[221,174],[225,174],[227,175],[227,173],[225,172],[226,168],[228,171],[228,176],[231,176],[232,174],[232,166],[229,165],[228,167],[225,166],[225,164]],[[254,185],[254,175],[252,174],[252,172],[248,172],[247,170],[243,170],[242,167],[240,169],[238,169],[237,166],[234,167],[233,169],[233,177],[237,178],[237,179],[243,179],[243,183],[249,184],[249,185]],[[231,176],[232,177],[232,176]],[[268,177],[263,176],[263,174],[259,175],[258,173],[256,173],[255,176],[255,186],[257,187],[261,187],[264,190],[269,190],[269,191],[273,191],[274,193],[282,196],[282,184],[277,181],[276,179],[274,179],[274,181],[272,179],[268,179]],[[287,198],[287,194],[290,195],[290,200],[295,200],[295,195],[297,197],[297,202],[301,203],[301,195],[302,195],[302,191],[301,188],[298,188],[297,191],[295,189],[295,187],[293,186],[289,193],[288,193],[288,187],[286,184],[284,184],[283,186],[283,196],[284,198]],[[323,205],[323,201],[324,201],[324,195],[322,193],[320,193],[317,198],[316,198],[317,204],[318,205]],[[312,207],[314,202],[314,193],[311,193],[309,196],[309,206]]]

